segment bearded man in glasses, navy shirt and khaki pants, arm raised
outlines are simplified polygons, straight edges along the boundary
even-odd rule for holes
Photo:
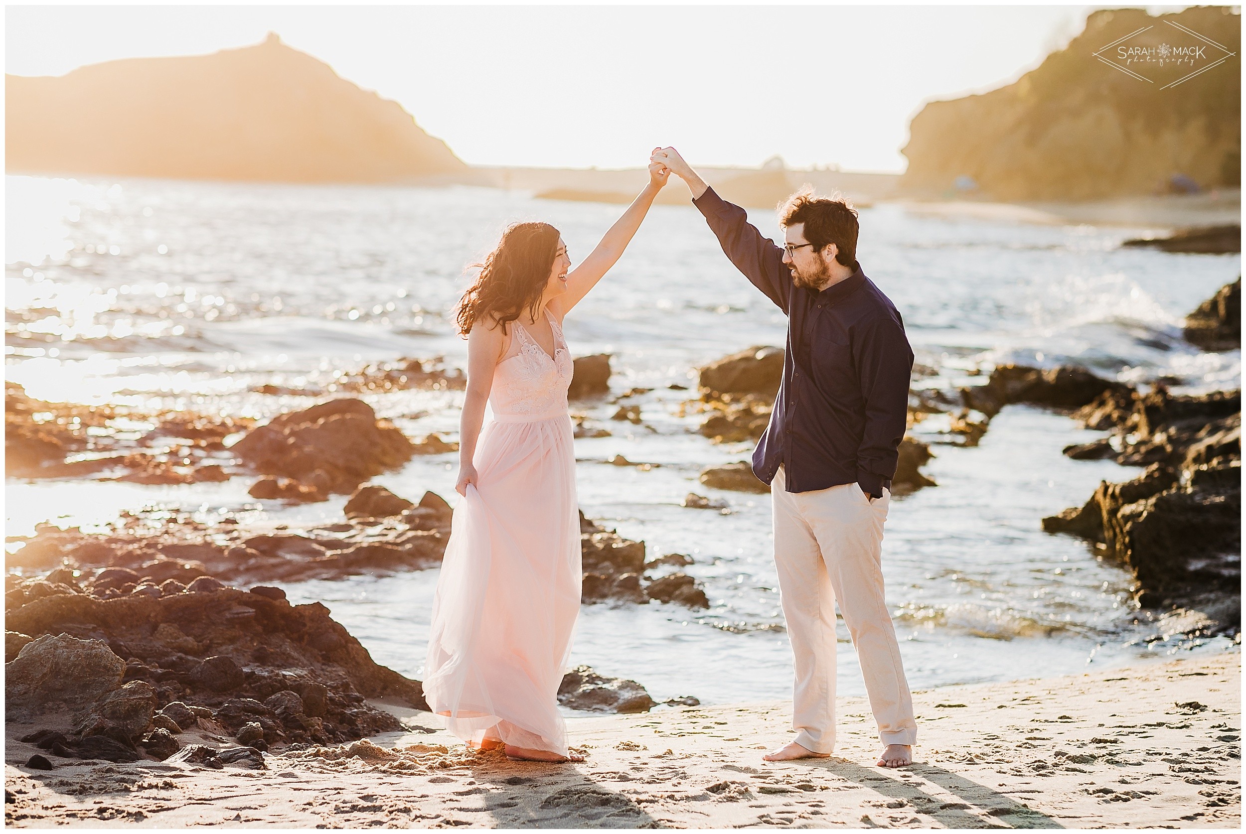
[[[913,352],[895,305],[856,260],[856,212],[800,192],[781,209],[786,245],[749,225],[674,148],[680,177],[723,251],[787,315],[782,382],[753,471],[771,484],[775,565],[795,660],[796,738],[766,761],[835,749],[835,601],[861,660],[886,746],[912,763],[912,697],[882,586],[882,527],[905,436]]]

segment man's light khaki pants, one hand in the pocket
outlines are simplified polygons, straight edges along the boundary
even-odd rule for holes
[[[771,484],[775,565],[796,667],[792,728],[815,753],[835,751],[835,601],[852,636],[883,744],[917,738],[913,701],[882,590],[882,524],[891,493],[855,483],[789,493]]]

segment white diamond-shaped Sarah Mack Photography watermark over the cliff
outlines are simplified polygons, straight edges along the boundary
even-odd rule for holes
[[[1164,24],[1168,27],[1141,26],[1096,50],[1094,56],[1138,81],[1168,90],[1237,55],[1189,26],[1171,20]]]

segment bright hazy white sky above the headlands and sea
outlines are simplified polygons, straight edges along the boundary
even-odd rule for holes
[[[7,6],[5,71],[275,31],[472,164],[637,167],[673,144],[695,164],[898,172],[922,103],[1014,81],[1093,7]]]

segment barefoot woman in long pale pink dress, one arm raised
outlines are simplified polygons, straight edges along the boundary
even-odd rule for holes
[[[579,614],[579,520],[563,316],[618,261],[667,169],[584,261],[547,223],[518,223],[464,294],[467,396],[462,495],[432,602],[424,693],[468,744],[512,759],[581,762],[567,748],[558,685]],[[493,418],[483,426],[485,403]]]

